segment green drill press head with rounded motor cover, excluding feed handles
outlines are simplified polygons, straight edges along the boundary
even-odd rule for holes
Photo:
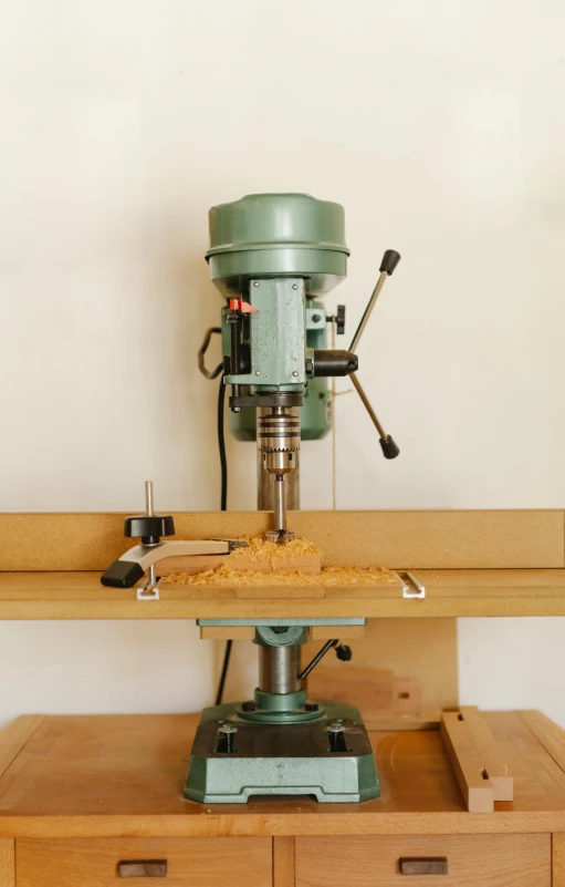
[[[331,399],[314,360],[325,353],[327,314],[317,299],[347,274],[343,207],[307,194],[251,194],[212,207],[209,223],[206,258],[227,299],[222,344],[232,405],[271,395],[274,406],[279,396],[302,406],[304,440],[324,437]],[[254,410],[230,413],[239,440],[255,440],[255,427]]]

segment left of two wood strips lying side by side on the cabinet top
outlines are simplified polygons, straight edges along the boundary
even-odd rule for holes
[[[469,728],[459,712],[443,712],[441,735],[469,813],[492,813],[494,791]]]

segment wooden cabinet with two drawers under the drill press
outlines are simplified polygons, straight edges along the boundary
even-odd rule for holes
[[[515,791],[484,814],[465,811],[437,730],[372,733],[381,795],[364,804],[196,804],[182,788],[197,722],[27,716],[0,731],[0,887],[117,887],[124,874],[166,887],[565,887],[565,732],[541,715],[488,714]],[[401,859],[417,862],[402,874]],[[160,866],[144,873],[148,860]],[[137,871],[121,876],[122,862]]]

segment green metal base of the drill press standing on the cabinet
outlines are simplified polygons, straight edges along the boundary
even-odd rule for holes
[[[245,804],[252,795],[313,795],[320,802],[379,796],[373,750],[358,709],[321,702],[324,714],[304,723],[268,724],[240,718],[238,703],[202,711],[185,797],[203,804]],[[342,723],[347,751],[331,751],[328,724]],[[218,752],[218,728],[237,726],[231,753]]]

